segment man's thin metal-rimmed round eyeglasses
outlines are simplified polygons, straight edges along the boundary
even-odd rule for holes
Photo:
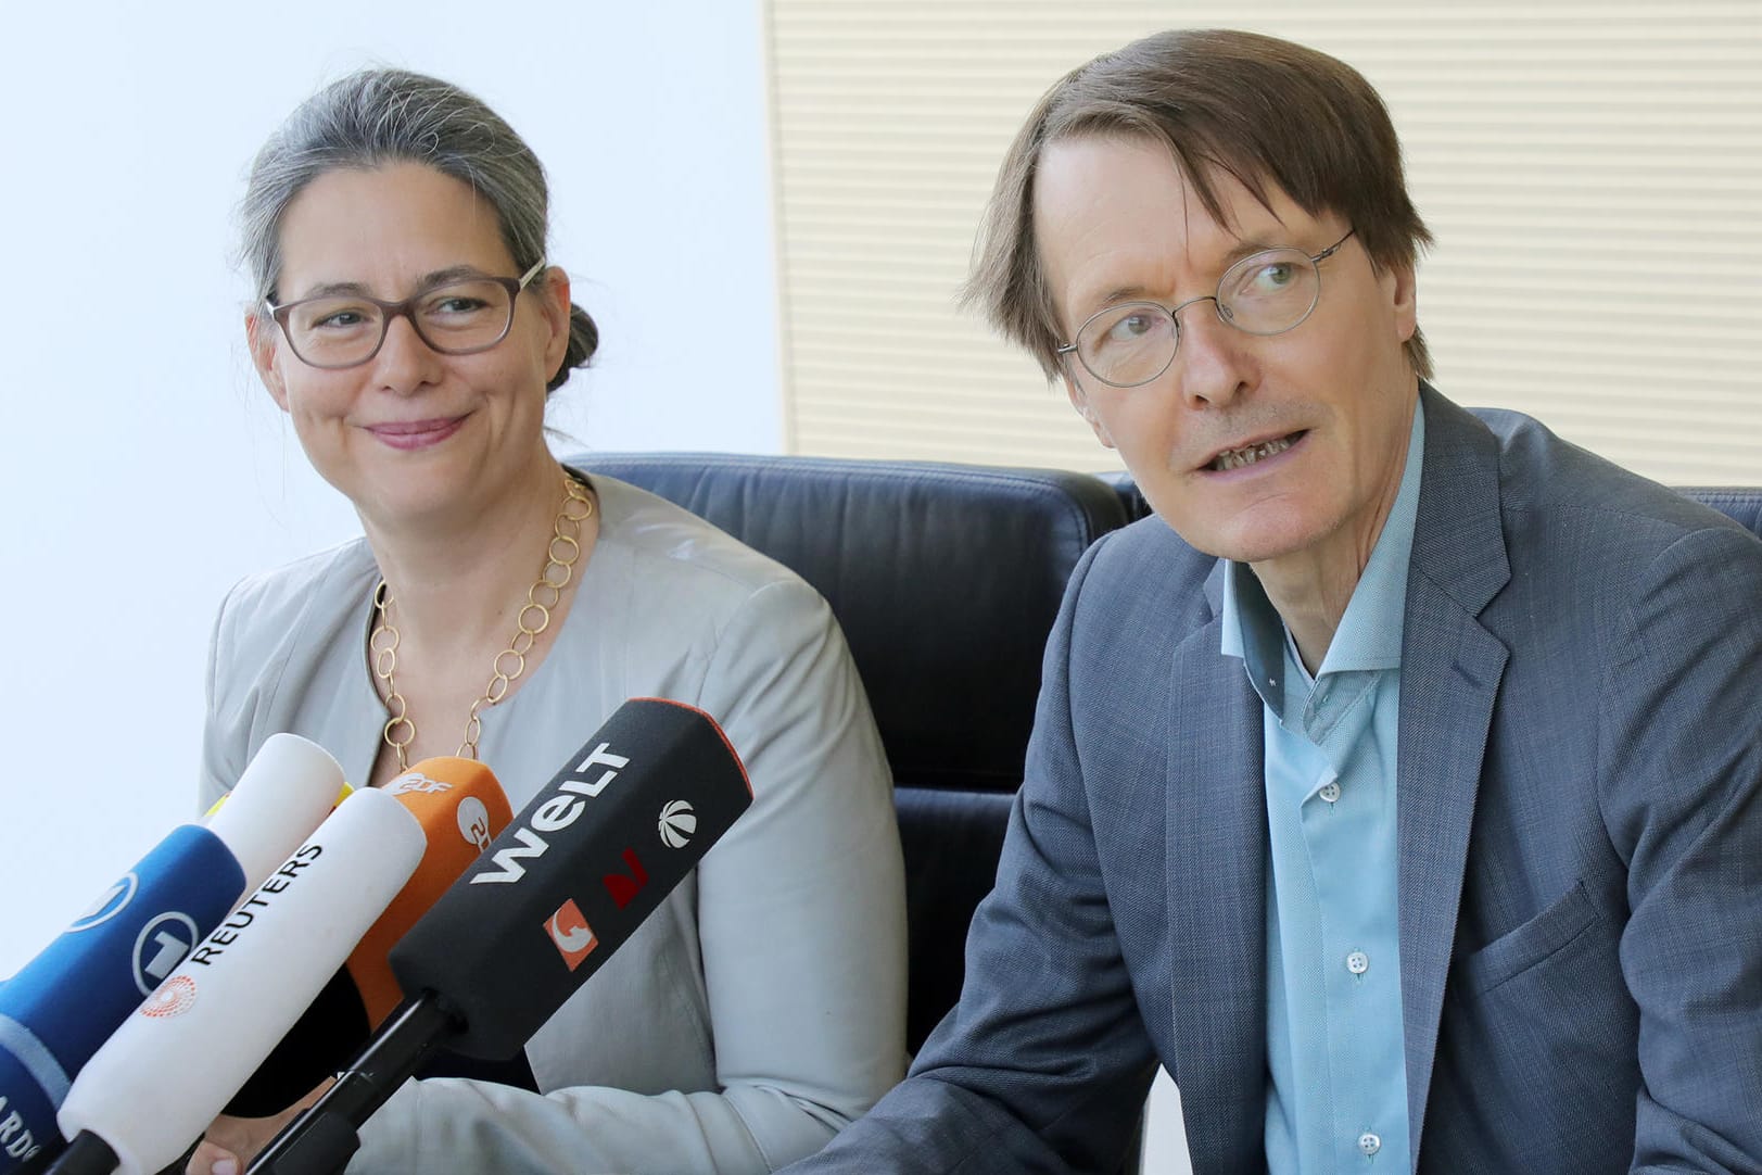
[[[1077,340],[1057,349],[1075,354],[1089,373],[1114,388],[1136,388],[1168,370],[1181,345],[1175,319],[1195,301],[1209,301],[1218,321],[1249,335],[1283,335],[1309,317],[1322,298],[1323,261],[1339,252],[1353,234],[1339,238],[1320,254],[1300,248],[1269,248],[1237,261],[1218,280],[1218,292],[1189,298],[1179,307],[1156,301],[1122,301],[1089,317]]]

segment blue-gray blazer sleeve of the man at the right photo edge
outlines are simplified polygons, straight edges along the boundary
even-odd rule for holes
[[[1762,544],[1693,532],[1633,576],[1596,777],[1628,861],[1633,1170],[1762,1170]]]

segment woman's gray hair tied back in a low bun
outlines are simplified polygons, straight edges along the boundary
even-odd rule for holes
[[[495,210],[502,243],[525,273],[544,259],[550,190],[544,166],[500,115],[458,86],[403,69],[363,69],[300,104],[250,166],[240,203],[240,261],[255,296],[277,301],[282,277],[282,217],[301,190],[328,171],[412,162],[470,185]],[[585,366],[599,328],[569,307],[569,351],[546,386],[555,391]]]

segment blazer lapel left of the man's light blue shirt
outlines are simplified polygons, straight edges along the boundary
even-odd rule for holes
[[[1200,1171],[1260,1154],[1267,1097],[1262,706],[1219,641],[1214,618],[1175,650],[1168,715],[1173,1078]]]

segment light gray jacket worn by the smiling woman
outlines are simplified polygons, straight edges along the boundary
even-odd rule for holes
[[[694,877],[527,1046],[543,1094],[412,1082],[351,1171],[768,1171],[904,1071],[906,930],[892,780],[825,601],[634,486],[594,477],[601,530],[557,645],[485,712],[518,812],[626,698],[712,713],[754,803]],[[241,581],[215,625],[201,803],[275,731],[368,777],[379,571],[363,541]]]

